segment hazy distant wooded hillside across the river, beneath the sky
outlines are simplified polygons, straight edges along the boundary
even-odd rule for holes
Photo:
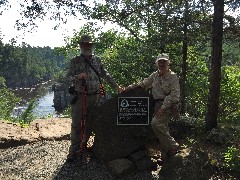
[[[65,57],[50,47],[16,46],[0,40],[0,77],[9,88],[30,87],[52,79],[65,68]]]

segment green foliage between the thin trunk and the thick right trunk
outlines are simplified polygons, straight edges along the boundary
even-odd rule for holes
[[[190,116],[203,118],[208,97],[208,73],[206,57],[189,47],[186,79],[186,108]]]

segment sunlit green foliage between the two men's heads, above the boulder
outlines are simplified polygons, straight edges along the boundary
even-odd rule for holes
[[[127,86],[150,75],[154,61],[148,58],[148,53],[144,54],[144,51],[141,51],[144,44],[134,37],[126,37],[124,33],[117,34],[110,30],[101,33],[99,41],[104,45],[99,44],[101,59],[119,84]]]

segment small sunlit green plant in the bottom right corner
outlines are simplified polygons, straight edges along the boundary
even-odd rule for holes
[[[228,147],[224,153],[224,165],[231,170],[239,171],[240,169],[240,150],[234,146]]]

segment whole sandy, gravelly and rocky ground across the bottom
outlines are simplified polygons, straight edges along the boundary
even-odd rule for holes
[[[39,119],[28,128],[7,121],[0,121],[0,179],[54,179],[54,180],[150,180],[150,179],[231,179],[233,174],[212,166],[211,155],[222,157],[219,146],[199,144],[188,139],[178,139],[185,146],[182,153],[169,160],[165,166],[151,171],[129,173],[116,177],[110,169],[89,154],[88,162],[67,163],[70,145],[68,118]],[[94,139],[89,142],[92,145]],[[188,146],[188,148],[186,148]],[[149,153],[158,154],[156,144],[150,144]],[[217,159],[217,158],[215,158]]]

